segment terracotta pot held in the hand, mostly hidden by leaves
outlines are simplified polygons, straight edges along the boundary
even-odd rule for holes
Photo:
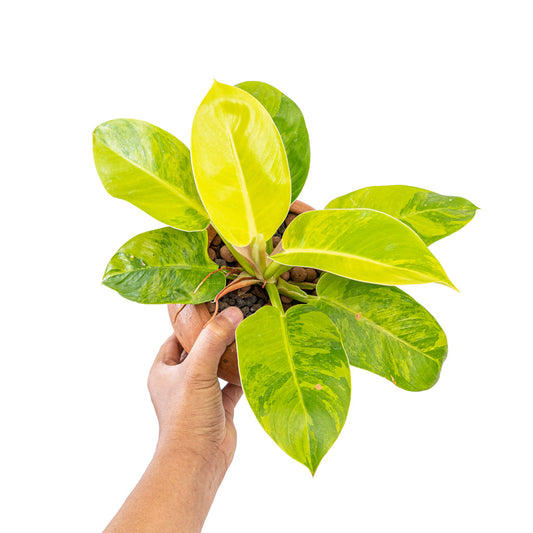
[[[313,208],[299,200],[296,200],[292,205],[290,212],[296,215],[305,213],[306,211],[312,211]],[[209,226],[207,228],[207,234],[209,237],[209,244],[215,238],[217,234],[214,228]],[[168,305],[168,314],[170,316],[170,321],[176,315],[176,311],[181,306],[179,304],[169,304]],[[174,333],[178,338],[178,341],[183,346],[183,348],[189,352],[198,335],[202,331],[204,324],[211,318],[211,314],[207,310],[205,304],[199,305],[186,305],[182,309],[179,315],[176,318],[176,321],[172,324],[174,327]],[[222,357],[220,358],[220,364],[218,367],[218,376],[222,379],[240,385],[241,380],[239,377],[239,367],[237,363],[237,347],[235,342],[231,343]]]

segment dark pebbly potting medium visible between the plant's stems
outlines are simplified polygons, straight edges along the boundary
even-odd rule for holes
[[[274,236],[272,237],[272,244],[274,248],[277,246],[287,226],[296,218],[297,215],[289,213],[285,222],[278,228]],[[219,235],[211,241],[209,246],[209,257],[219,266],[238,267],[239,264],[235,261],[235,258],[228,250],[228,247],[224,244]],[[320,270],[313,268],[294,267],[288,272],[285,272],[281,277],[287,281],[292,280],[296,282],[309,281],[316,283]],[[306,291],[309,294],[316,294],[315,291]],[[252,285],[251,287],[243,287],[237,289],[234,292],[226,294],[219,300],[218,310],[222,311],[226,307],[236,306],[241,311],[244,317],[254,314],[258,309],[261,309],[264,305],[269,304],[269,297],[265,289],[261,288],[261,285]],[[301,302],[297,302],[287,296],[281,296],[281,302],[283,309],[286,311],[293,305],[298,305]],[[208,311],[213,314],[215,311],[214,302],[207,302]]]

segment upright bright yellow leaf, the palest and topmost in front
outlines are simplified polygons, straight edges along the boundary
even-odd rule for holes
[[[234,246],[265,241],[290,206],[291,178],[266,109],[237,87],[213,83],[192,127],[196,185],[218,232]]]

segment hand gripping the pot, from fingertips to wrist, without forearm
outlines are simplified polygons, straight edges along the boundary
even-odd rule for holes
[[[219,478],[218,483],[235,453],[233,411],[242,389],[228,384],[221,390],[217,369],[242,318],[235,307],[219,313],[202,330],[188,355],[172,335],[161,347],[148,377],[159,421],[157,451],[199,459]]]

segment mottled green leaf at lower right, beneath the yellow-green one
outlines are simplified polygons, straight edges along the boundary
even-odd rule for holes
[[[397,287],[324,274],[312,305],[337,326],[350,363],[402,389],[421,391],[439,379],[446,335],[431,314]]]

